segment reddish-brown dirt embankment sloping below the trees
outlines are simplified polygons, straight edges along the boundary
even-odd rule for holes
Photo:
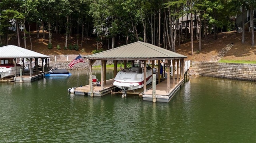
[[[256,39],[256,32],[254,37]],[[40,33],[42,37],[42,32]],[[178,41],[178,39],[177,39]],[[254,43],[256,40],[254,40]],[[27,49],[31,49],[30,41],[27,39]],[[76,37],[71,37],[71,44],[76,44]],[[18,45],[17,39],[12,38],[8,44]],[[92,54],[92,50],[96,49],[97,43],[94,38],[89,38],[87,43],[83,42],[81,46],[81,40],[79,39],[79,50],[64,50],[65,36],[52,33],[52,45],[53,49],[48,49],[48,33],[46,33],[46,39],[36,38],[36,32],[32,32],[32,49],[38,53],[45,55],[89,55]],[[60,50],[57,49],[57,45],[60,45]],[[199,49],[199,41],[194,39],[193,49],[194,54],[191,54],[191,42],[176,45],[176,52],[182,55],[186,55],[187,60],[192,61],[213,61],[227,59],[227,60],[248,60],[256,61],[256,46],[251,46],[251,33],[245,33],[245,43],[242,44],[242,33],[236,33],[234,31],[218,33],[218,39],[214,40],[214,35],[207,35],[207,39],[202,38],[202,51]],[[24,40],[21,40],[21,47],[24,47]]]

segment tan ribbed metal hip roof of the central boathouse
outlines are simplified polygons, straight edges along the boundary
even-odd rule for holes
[[[158,60],[184,58],[186,56],[142,41],[84,57],[84,59],[91,60]]]

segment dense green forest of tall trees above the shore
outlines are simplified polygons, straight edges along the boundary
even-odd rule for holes
[[[1,0],[0,44],[8,45],[10,33],[16,33],[18,46],[24,40],[24,48],[30,44],[32,50],[30,32],[46,38],[48,31],[48,49],[52,33],[58,33],[66,36],[65,48],[71,36],[78,46],[94,36],[107,49],[144,41],[175,51],[177,44],[235,30],[236,16],[254,8],[256,0]],[[244,20],[242,25],[244,33]],[[250,30],[253,46],[253,26]]]

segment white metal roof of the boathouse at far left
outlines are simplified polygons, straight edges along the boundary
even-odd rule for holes
[[[49,56],[15,45],[6,45],[0,47],[0,58],[49,58]]]

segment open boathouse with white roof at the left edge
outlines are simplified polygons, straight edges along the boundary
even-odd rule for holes
[[[11,80],[14,82],[30,82],[43,77],[44,73],[48,71],[48,64],[50,61],[49,58],[50,57],[47,55],[37,53],[35,51],[31,51],[29,49],[25,49],[15,45],[6,45],[0,47],[1,63],[13,62],[16,66],[17,59],[20,59],[19,64],[22,65],[22,70],[17,70],[15,67],[14,78],[13,80]],[[25,72],[25,60],[29,61],[27,67],[27,70],[29,71],[28,74]],[[35,69],[35,73],[33,73],[33,69]]]

